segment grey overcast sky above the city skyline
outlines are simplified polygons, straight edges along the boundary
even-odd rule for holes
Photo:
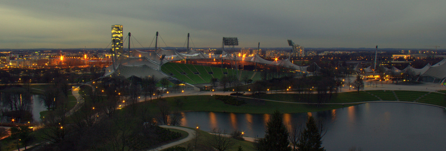
[[[190,33],[191,47],[221,47],[222,37],[238,37],[238,47],[288,47],[291,39],[312,48],[444,49],[445,6],[446,0],[1,0],[0,49],[105,48],[113,24],[143,47],[158,31],[169,47],[185,46]]]

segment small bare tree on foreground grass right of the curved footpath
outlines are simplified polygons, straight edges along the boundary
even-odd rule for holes
[[[226,137],[225,131],[220,131],[219,129],[213,129],[212,133],[214,135],[211,136],[209,140],[209,145],[214,147],[217,151],[226,151],[234,147],[235,140],[229,137]]]

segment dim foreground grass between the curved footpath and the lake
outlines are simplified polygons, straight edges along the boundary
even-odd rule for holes
[[[189,128],[189,127],[186,127],[186,128]],[[195,130],[194,128],[189,128],[189,129]],[[212,140],[212,137],[213,137],[212,134],[209,134],[209,133],[207,133],[205,131],[198,130],[197,150],[198,151],[208,151],[208,150],[211,150],[212,147],[209,145],[209,141]],[[236,140],[236,139],[234,139],[234,140],[235,140],[235,145],[228,151],[237,151],[237,148],[239,146],[243,147],[244,151],[256,151],[254,149],[254,146],[253,146],[252,142],[240,141],[240,140]],[[195,139],[192,139],[192,140],[187,141],[185,143],[179,144],[177,146],[187,148],[188,145],[190,147],[195,146]]]

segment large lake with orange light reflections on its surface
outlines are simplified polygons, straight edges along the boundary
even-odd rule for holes
[[[445,109],[409,103],[365,103],[336,110],[283,114],[285,125],[305,126],[312,114],[326,128],[322,146],[327,151],[439,151],[446,148]],[[182,113],[181,125],[203,131],[219,128],[230,133],[244,131],[246,136],[264,137],[269,114],[217,112]]]

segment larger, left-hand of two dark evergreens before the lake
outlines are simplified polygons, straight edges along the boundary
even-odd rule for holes
[[[260,151],[291,151],[291,147],[288,146],[288,131],[278,110],[269,118],[265,133],[265,137],[259,141]]]

